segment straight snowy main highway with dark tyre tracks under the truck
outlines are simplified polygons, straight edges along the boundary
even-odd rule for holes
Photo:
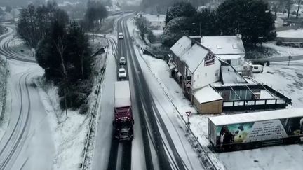
[[[128,31],[129,18],[126,16],[118,20],[117,31],[123,32],[124,38],[118,43],[109,38],[109,45],[117,52],[114,52],[116,57],[107,59],[92,169],[203,169],[197,153],[180,128],[182,125],[177,120],[175,108],[137,55]],[[127,143],[112,140],[111,134],[113,86],[116,67],[119,67],[114,60],[119,57],[127,59],[135,120],[134,139]]]

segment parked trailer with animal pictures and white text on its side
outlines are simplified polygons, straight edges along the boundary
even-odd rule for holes
[[[208,137],[217,151],[301,142],[303,108],[208,118]]]

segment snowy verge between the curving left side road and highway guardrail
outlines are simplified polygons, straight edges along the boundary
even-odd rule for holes
[[[43,78],[36,78],[39,94],[46,108],[50,130],[55,143],[55,159],[53,169],[77,169],[82,161],[83,147],[88,132],[88,115],[80,115],[79,111],[65,111],[59,106],[58,88],[45,83]],[[75,128],[76,127],[76,128]]]

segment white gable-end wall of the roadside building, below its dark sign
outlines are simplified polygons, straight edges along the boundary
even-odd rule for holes
[[[193,90],[209,85],[210,83],[215,83],[219,81],[220,66],[221,63],[217,59],[217,57],[215,57],[215,63],[209,66],[205,66],[203,60],[198,66],[198,69],[194,71],[194,76],[192,79]]]

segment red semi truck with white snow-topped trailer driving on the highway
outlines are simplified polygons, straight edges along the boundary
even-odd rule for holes
[[[119,141],[131,141],[134,120],[129,82],[117,81],[114,90],[114,137]]]

